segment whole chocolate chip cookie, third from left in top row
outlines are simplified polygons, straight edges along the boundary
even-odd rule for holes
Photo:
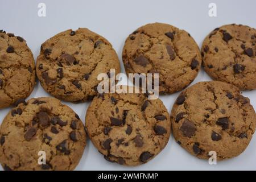
[[[126,73],[159,73],[159,92],[187,87],[201,66],[199,47],[188,32],[170,24],[152,23],[126,39],[122,53]]]

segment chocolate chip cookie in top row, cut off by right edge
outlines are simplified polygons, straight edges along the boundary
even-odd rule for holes
[[[256,30],[228,24],[216,28],[201,48],[204,70],[214,80],[236,85],[241,90],[256,89]]]

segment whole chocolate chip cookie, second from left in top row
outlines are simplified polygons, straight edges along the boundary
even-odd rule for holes
[[[117,53],[102,36],[87,28],[67,30],[41,46],[36,73],[43,88],[64,101],[92,100],[100,73],[120,72]]]

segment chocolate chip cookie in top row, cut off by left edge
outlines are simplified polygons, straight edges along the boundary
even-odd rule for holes
[[[35,60],[26,40],[0,30],[0,109],[30,96]]]

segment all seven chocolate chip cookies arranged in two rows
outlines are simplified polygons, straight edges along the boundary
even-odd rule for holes
[[[229,24],[214,29],[201,51],[192,36],[164,23],[146,24],[128,36],[126,73],[159,73],[159,92],[177,97],[171,114],[148,94],[97,93],[100,73],[120,72],[117,53],[102,36],[79,28],[41,46],[36,65],[26,41],[0,31],[0,109],[13,106],[0,128],[5,170],[72,170],[86,135],[109,162],[137,166],[163,150],[170,135],[197,158],[240,155],[250,143],[256,115],[241,90],[256,89],[256,30]],[[215,81],[198,82],[201,65]],[[53,97],[32,98],[36,77]],[[187,88],[187,89],[186,89]],[[61,103],[92,101],[85,126]],[[46,163],[38,163],[38,152]],[[103,157],[102,157],[103,158]]]

